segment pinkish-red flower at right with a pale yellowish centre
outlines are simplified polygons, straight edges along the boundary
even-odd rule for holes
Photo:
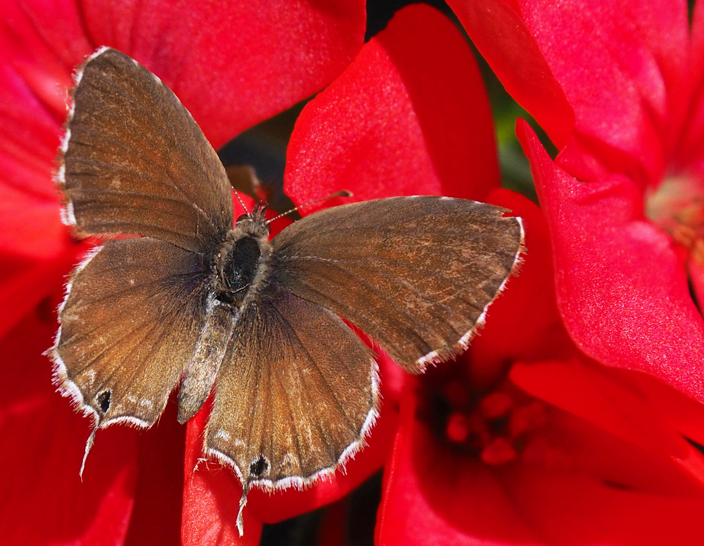
[[[560,150],[519,123],[570,336],[704,402],[704,4],[450,4]]]

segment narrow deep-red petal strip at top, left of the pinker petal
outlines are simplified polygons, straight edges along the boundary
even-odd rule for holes
[[[562,148],[574,128],[574,111],[520,7],[514,5],[517,2],[450,0],[448,4],[506,90]]]

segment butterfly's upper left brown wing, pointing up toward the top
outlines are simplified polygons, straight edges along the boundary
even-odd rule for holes
[[[209,250],[232,228],[232,192],[188,110],[115,49],[96,51],[75,79],[57,173],[65,223]]]

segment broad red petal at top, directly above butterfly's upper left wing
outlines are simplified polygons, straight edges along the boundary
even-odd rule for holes
[[[115,46],[179,96],[215,148],[318,91],[363,43],[359,0],[185,3],[109,0],[84,8],[94,44]]]

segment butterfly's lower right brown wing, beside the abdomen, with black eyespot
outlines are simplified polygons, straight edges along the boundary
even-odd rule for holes
[[[377,407],[372,352],[287,291],[246,305],[220,368],[206,454],[246,488],[303,485],[354,452]]]

